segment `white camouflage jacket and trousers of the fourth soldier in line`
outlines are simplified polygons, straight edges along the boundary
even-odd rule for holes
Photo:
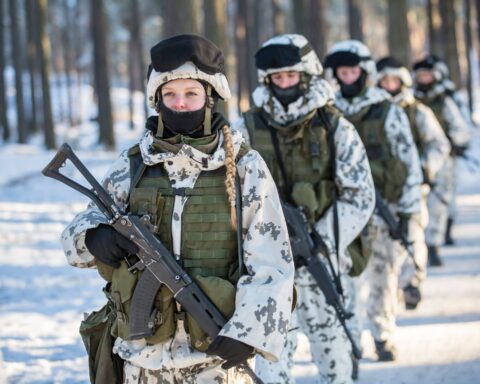
[[[394,96],[392,100],[402,108],[415,102],[413,91],[409,88],[403,88],[402,92]],[[420,157],[422,169],[429,180],[435,180],[438,171],[445,161],[448,161],[450,143],[433,111],[426,105],[417,104],[415,121],[423,149]],[[407,258],[402,266],[401,287],[405,287],[409,283],[418,287],[426,277],[428,258],[425,229],[428,224],[427,196],[429,189],[430,187],[427,185],[422,186],[420,213],[413,214],[409,223],[409,237],[410,241],[413,242],[412,250],[418,270],[411,259]],[[437,193],[436,190],[435,193]]]

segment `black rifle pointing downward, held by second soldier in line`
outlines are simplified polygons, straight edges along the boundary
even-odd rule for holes
[[[285,202],[282,202],[282,208],[288,226],[294,259],[301,264],[305,264],[323,292],[327,304],[331,305],[335,310],[338,320],[340,324],[342,324],[345,334],[352,344],[353,355],[357,359],[361,359],[362,352],[360,348],[358,348],[346,324],[346,320],[351,318],[353,314],[348,313],[343,307],[340,295],[328,273],[327,267],[318,257],[319,253],[328,257],[328,250],[326,249],[325,243],[315,229],[309,233],[307,219],[300,208]]]

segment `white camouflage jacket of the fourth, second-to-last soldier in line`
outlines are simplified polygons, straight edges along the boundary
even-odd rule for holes
[[[411,89],[403,88],[402,92],[392,98],[392,101],[405,108],[415,102],[415,97]],[[435,114],[425,104],[417,104],[415,121],[423,149],[420,162],[428,180],[434,180],[437,172],[450,156],[450,143]]]

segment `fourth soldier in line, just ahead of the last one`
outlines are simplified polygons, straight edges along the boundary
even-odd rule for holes
[[[393,57],[385,57],[377,62],[377,79],[378,85],[392,95],[392,101],[406,112],[422,165],[424,183],[422,185],[421,211],[413,214],[409,223],[416,268],[414,263],[407,259],[402,267],[400,279],[406,308],[415,309],[421,299],[420,284],[426,277],[427,196],[438,171],[449,157],[450,143],[432,110],[413,96],[412,77],[405,66]],[[437,192],[433,190],[432,193]]]

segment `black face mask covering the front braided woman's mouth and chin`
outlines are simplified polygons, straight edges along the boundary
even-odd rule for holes
[[[203,126],[205,106],[197,111],[178,112],[158,104],[165,128],[174,134],[190,136]]]

